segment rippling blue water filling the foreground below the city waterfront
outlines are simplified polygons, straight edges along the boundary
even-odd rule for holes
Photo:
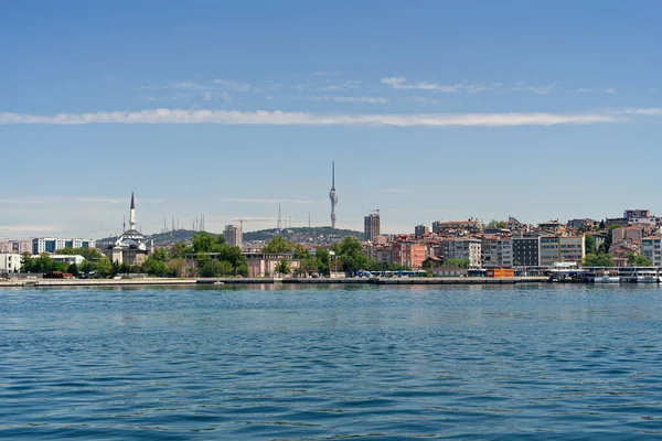
[[[0,438],[662,435],[662,288],[0,290]]]

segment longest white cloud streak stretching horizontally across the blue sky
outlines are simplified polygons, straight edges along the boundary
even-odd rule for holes
[[[629,112],[631,114],[631,112]],[[212,123],[269,126],[366,127],[514,127],[619,122],[624,112],[545,114],[311,114],[292,111],[237,111],[210,109],[150,109],[93,114],[32,115],[0,112],[0,125],[87,123]]]

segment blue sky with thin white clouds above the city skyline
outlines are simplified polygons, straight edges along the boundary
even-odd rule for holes
[[[662,214],[659,1],[6,1],[0,239]]]

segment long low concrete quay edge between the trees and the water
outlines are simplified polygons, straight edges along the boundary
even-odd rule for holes
[[[210,278],[210,279],[21,279],[0,281],[0,288],[65,287],[161,287],[161,286],[233,286],[233,284],[517,284],[543,283],[547,277],[462,278],[462,277],[391,277],[391,278]]]

